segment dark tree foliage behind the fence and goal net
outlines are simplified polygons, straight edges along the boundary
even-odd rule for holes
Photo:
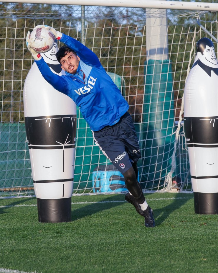
[[[98,55],[106,71],[116,73],[125,80],[125,95],[130,112],[135,115],[136,122],[141,120],[145,91],[146,9],[86,6],[83,29],[80,6],[0,5],[1,121],[24,121],[22,91],[33,63],[25,38],[27,32],[38,24],[50,25],[81,42],[85,34],[85,45]],[[205,33],[196,24],[196,16],[191,13],[182,16],[185,11],[178,14],[173,10],[167,12],[175,109],[179,111],[189,60],[194,60],[195,49],[190,56],[193,42],[205,36]],[[217,13],[201,12],[199,16],[204,27],[216,36]]]

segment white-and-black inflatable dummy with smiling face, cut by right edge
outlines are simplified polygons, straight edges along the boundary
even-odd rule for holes
[[[218,213],[218,63],[202,38],[184,89],[184,131],[195,213]]]

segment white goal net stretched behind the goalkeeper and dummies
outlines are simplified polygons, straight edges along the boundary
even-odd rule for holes
[[[129,103],[142,154],[138,177],[143,190],[191,191],[184,84],[200,38],[210,38],[217,54],[217,12],[2,1],[0,197],[34,194],[23,87],[33,64],[25,38],[38,24],[52,26],[93,50]],[[77,109],[73,193],[104,192],[100,170],[108,170],[102,171],[107,176],[112,169]],[[122,181],[115,170],[105,179]],[[105,192],[118,192],[108,189]]]

